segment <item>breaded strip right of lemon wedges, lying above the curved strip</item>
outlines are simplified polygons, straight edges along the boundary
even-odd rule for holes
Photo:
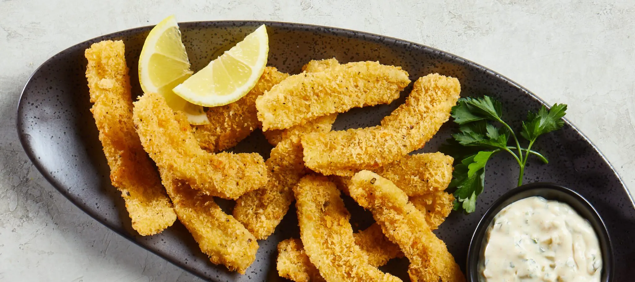
[[[318,116],[389,104],[410,83],[401,67],[354,62],[284,79],[256,99],[263,130],[290,128]]]

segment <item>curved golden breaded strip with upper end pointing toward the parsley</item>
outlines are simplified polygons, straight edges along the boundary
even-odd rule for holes
[[[406,102],[384,117],[381,126],[304,135],[306,166],[324,175],[352,176],[397,161],[424,147],[450,117],[459,94],[454,77],[420,77]]]

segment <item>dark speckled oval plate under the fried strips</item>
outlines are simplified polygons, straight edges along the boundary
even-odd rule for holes
[[[314,25],[279,22],[189,22],[181,24],[183,41],[192,69],[201,69],[220,51],[227,50],[261,24],[269,31],[269,65],[297,73],[311,59],[335,57],[340,62],[378,60],[401,65],[414,81],[431,72],[457,77],[462,95],[488,94],[498,98],[507,110],[505,118],[518,127],[528,110],[544,104],[530,91],[481,65],[420,44]],[[281,239],[298,237],[295,209],[291,208],[276,232],[260,241],[257,260],[246,275],[228,272],[209,262],[183,225],[175,224],[161,234],[141,237],[130,228],[123,200],[110,185],[109,168],[97,138],[89,111],[91,105],[84,71],[84,50],[104,39],[123,39],[131,71],[133,95],[141,93],[137,83],[137,60],[151,27],[116,32],[64,50],[46,61],[30,78],[18,105],[17,130],[24,150],[44,177],[75,205],[113,231],[187,271],[213,281],[278,281],[276,245]],[[404,91],[407,93],[407,91]],[[335,130],[372,126],[394,109],[391,105],[355,109],[340,115]],[[450,124],[423,151],[437,151],[450,136]],[[551,161],[530,161],[525,182],[545,181],[570,187],[587,198],[606,222],[615,247],[615,281],[630,281],[635,275],[635,209],[629,192],[598,149],[572,124],[541,137],[535,148]],[[262,133],[254,132],[234,151],[255,151],[267,158],[271,146]],[[507,156],[490,161],[486,189],[471,215],[453,213],[436,231],[457,262],[465,267],[467,247],[474,228],[490,204],[515,187],[517,165]],[[356,228],[370,225],[368,212],[351,199],[347,206]],[[222,201],[231,209],[229,201]],[[406,259],[392,260],[382,267],[404,280]]]

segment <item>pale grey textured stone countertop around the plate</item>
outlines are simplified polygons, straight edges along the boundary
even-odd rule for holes
[[[174,2],[0,2],[0,281],[197,281],[62,197],[32,166],[15,133],[20,91],[44,60],[92,37],[156,24],[170,13],[181,22],[329,25],[468,58],[549,104],[568,104],[568,119],[635,192],[635,176],[629,173],[635,169],[633,1]]]

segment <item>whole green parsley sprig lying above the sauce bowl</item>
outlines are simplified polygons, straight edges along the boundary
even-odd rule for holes
[[[502,119],[500,102],[488,96],[460,98],[451,112],[454,122],[459,124],[458,133],[453,134],[453,139],[443,146],[446,153],[457,161],[460,159],[450,183],[450,187],[457,188],[454,192],[454,210],[464,210],[465,213],[475,210],[476,197],[483,192],[485,185],[485,166],[494,154],[509,152],[516,159],[520,166],[518,185],[523,184],[529,156],[536,156],[548,163],[547,158],[531,150],[531,146],[540,135],[562,128],[565,111],[565,104],[554,104],[549,110],[542,106],[537,113],[528,112],[520,136],[529,144],[521,147],[514,130]],[[508,145],[510,138],[511,146]]]

